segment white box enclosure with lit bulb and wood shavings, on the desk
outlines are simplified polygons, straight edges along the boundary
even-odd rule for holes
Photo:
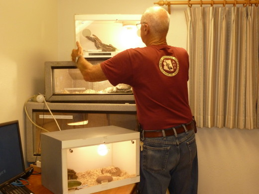
[[[98,154],[101,144],[107,146],[105,156]],[[115,167],[121,170],[121,176],[112,176],[112,182],[102,184],[95,181],[100,170],[107,173]],[[68,189],[68,169],[79,175],[82,186]],[[91,194],[137,183],[139,132],[104,126],[42,133],[41,172],[42,185],[54,194]],[[81,179],[83,176],[92,180]]]

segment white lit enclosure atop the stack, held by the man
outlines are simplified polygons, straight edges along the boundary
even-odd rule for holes
[[[76,14],[76,41],[88,60],[109,59],[126,49],[145,46],[136,27],[140,20],[141,14]],[[100,41],[91,40],[95,37]],[[115,50],[102,45],[112,45]]]

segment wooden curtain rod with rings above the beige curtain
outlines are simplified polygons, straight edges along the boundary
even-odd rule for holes
[[[225,6],[226,4],[233,4],[233,6],[236,6],[237,4],[243,4],[243,6],[246,7],[247,5],[251,6],[252,4],[255,4],[255,6],[258,7],[259,0],[186,0],[186,1],[159,0],[157,2],[154,2],[154,4],[158,4],[160,6],[167,5],[168,13],[171,14],[170,5],[187,4],[189,7],[191,7],[193,4],[199,4],[202,7],[203,4],[210,4],[211,6],[213,6],[214,4],[223,4],[223,6]]]

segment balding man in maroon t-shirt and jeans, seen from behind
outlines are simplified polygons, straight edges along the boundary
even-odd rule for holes
[[[83,49],[72,60],[88,82],[109,80],[133,88],[140,123],[140,193],[197,194],[198,162],[194,123],[188,102],[186,50],[168,46],[169,14],[146,9],[140,36],[144,48],[128,49],[93,66]],[[78,59],[78,60],[77,60]]]

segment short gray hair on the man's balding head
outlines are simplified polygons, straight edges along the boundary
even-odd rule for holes
[[[167,34],[169,22],[169,13],[160,6],[152,6],[147,8],[141,17],[141,23],[147,23],[150,32],[159,36]]]

